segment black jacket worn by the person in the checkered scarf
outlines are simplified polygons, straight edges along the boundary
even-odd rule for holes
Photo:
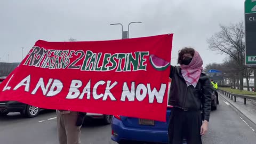
[[[172,78],[168,105],[183,110],[202,110],[204,120],[209,122],[211,113],[211,95],[213,93],[210,79],[201,73],[196,88],[187,86],[180,67],[171,66]]]

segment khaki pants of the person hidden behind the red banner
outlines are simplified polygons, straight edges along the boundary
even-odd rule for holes
[[[57,127],[60,144],[81,144],[81,126],[76,126],[78,113],[57,110]]]

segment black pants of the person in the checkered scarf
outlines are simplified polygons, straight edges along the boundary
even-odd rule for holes
[[[171,111],[168,136],[169,144],[202,144],[200,129],[202,125],[201,111],[183,111],[174,108]]]

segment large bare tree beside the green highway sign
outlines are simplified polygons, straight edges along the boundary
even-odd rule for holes
[[[245,33],[244,23],[239,22],[231,24],[230,26],[220,25],[221,30],[207,39],[209,49],[211,51],[218,51],[222,54],[229,55],[234,59],[239,71],[239,89],[243,90],[243,76],[244,76],[244,53],[245,53]]]

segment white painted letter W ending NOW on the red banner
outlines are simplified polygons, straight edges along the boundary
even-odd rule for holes
[[[147,84],[147,86],[148,86],[149,103],[154,102],[154,96],[156,97],[157,103],[163,103],[164,93],[166,90],[166,84],[161,84],[161,88],[160,88],[159,92],[156,90],[155,87],[154,87],[153,91],[151,91],[150,84]]]

